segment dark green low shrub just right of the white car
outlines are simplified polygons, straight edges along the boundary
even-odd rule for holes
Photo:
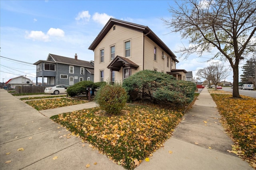
[[[79,94],[86,94],[88,91],[86,90],[86,87],[93,87],[94,83],[92,81],[80,81],[76,84],[74,84],[71,87],[68,87],[67,93],[71,97],[79,95]]]

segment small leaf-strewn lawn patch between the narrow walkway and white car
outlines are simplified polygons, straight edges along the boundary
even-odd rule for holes
[[[58,98],[58,99],[42,99],[42,100],[32,100],[26,101],[26,103],[38,111],[46,110],[46,109],[54,109],[58,107],[65,107],[71,105],[78,105],[82,103],[87,103],[86,100],[78,100],[72,98]]]

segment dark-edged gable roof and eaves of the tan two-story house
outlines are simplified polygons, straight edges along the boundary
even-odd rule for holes
[[[160,38],[158,38],[158,36],[156,36],[156,34],[154,34],[154,32],[152,32],[152,30],[150,30],[150,28],[148,28],[148,26],[142,26],[139,24],[131,23],[131,22],[117,20],[115,18],[110,18],[110,20],[108,20],[107,24],[100,31],[100,34],[98,34],[98,36],[95,38],[95,40],[92,42],[92,44],[88,49],[94,50],[114,25],[119,25],[119,26],[123,26],[126,28],[143,32],[146,36],[148,36],[148,38],[150,38],[159,47],[161,47],[164,51],[166,51],[166,53],[168,53],[168,55],[170,55],[174,61],[179,62],[178,59],[176,59],[176,55],[174,55],[174,53],[164,44],[164,42],[162,42],[162,40],[160,40]]]

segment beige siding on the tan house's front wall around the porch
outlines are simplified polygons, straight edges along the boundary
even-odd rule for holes
[[[142,70],[143,53],[143,33],[132,29],[115,25],[116,29],[111,28],[94,50],[94,82],[100,81],[100,70],[104,70],[104,81],[110,81],[110,69],[107,66],[111,62],[110,47],[115,45],[115,56],[125,56],[124,43],[131,42],[131,61],[139,65],[137,70],[132,69],[132,74]],[[100,63],[100,49],[104,49],[104,62]],[[122,81],[123,70],[116,71],[115,80]]]

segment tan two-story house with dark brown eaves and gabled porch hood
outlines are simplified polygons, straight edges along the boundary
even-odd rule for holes
[[[148,28],[110,18],[90,47],[94,82],[119,82],[141,70],[155,70],[185,80],[174,53]]]

